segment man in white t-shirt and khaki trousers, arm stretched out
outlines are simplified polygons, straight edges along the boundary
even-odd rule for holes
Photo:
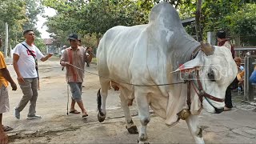
[[[13,66],[17,74],[18,84],[22,89],[23,97],[14,107],[14,116],[20,118],[20,112],[26,104],[30,102],[30,110],[27,114],[28,119],[38,119],[41,116],[36,115],[35,106],[38,98],[38,74],[35,69],[35,59],[46,61],[53,54],[44,56],[36,46],[34,46],[34,31],[25,30],[23,36],[25,42],[19,43],[14,48]]]

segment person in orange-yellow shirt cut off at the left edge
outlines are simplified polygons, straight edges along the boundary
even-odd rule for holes
[[[2,37],[0,35],[0,47],[2,46]],[[7,69],[5,58],[0,51],[0,143],[6,144],[8,136],[5,131],[13,130],[10,126],[2,125],[2,114],[10,110],[9,94],[7,90],[8,82],[12,90],[17,90],[17,85],[10,77],[9,70]]]

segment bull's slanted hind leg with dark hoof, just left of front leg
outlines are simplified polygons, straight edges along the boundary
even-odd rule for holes
[[[125,98],[123,93],[121,92],[120,94],[120,99],[121,99],[121,105],[122,109],[124,111],[125,117],[126,117],[126,129],[130,134],[138,134],[138,129],[137,126],[134,125],[134,122],[131,118],[130,115],[130,108],[128,106],[128,99]]]

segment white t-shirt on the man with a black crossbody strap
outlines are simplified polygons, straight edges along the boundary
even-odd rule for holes
[[[36,56],[36,59],[41,59],[44,55],[38,50],[37,46],[29,46],[26,42],[22,42],[31,52]],[[37,78],[38,74],[35,70],[34,57],[30,54],[30,51],[25,46],[19,43],[14,48],[14,54],[18,54],[18,69],[23,78]]]

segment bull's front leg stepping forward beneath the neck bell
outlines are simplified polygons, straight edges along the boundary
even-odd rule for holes
[[[186,124],[196,143],[205,143],[202,138],[202,128],[198,127],[198,115],[190,115],[186,118]]]

